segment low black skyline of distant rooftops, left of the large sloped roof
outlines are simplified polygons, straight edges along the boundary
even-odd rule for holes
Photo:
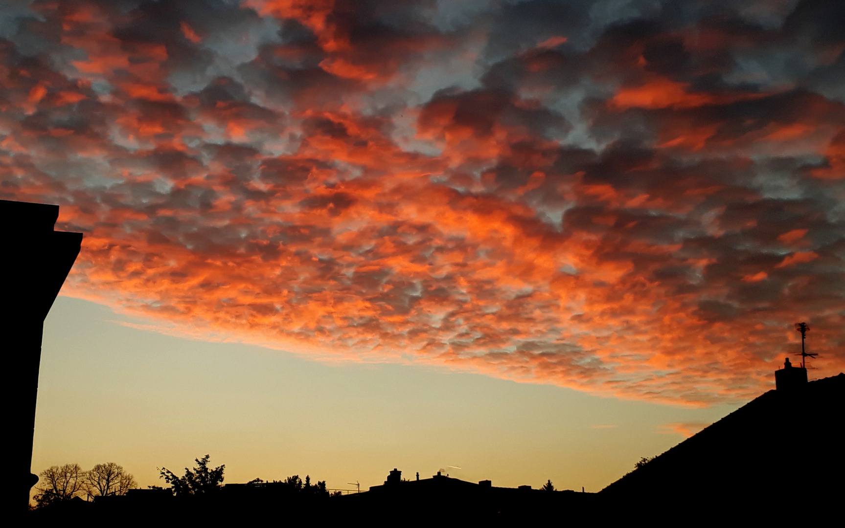
[[[530,487],[493,487],[489,481],[465,482],[435,475],[419,481],[401,482],[391,471],[382,486],[368,492],[332,496],[319,486],[304,487],[302,481],[226,484],[215,492],[174,496],[169,489],[134,489],[124,496],[81,498],[52,504],[32,512],[33,520],[49,522],[79,516],[86,520],[119,517],[137,522],[214,523],[361,521],[370,525],[400,523],[417,525],[437,522],[498,524],[559,518],[586,519],[595,512],[595,493],[546,491]],[[395,520],[395,521],[391,521]]]

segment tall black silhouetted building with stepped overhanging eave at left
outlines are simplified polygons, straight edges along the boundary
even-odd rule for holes
[[[38,477],[30,473],[35,400],[41,362],[41,332],[76,256],[82,233],[53,231],[58,205],[0,200],[3,226],[3,379],[7,419],[3,438],[8,446],[9,470],[3,495],[5,511],[25,511],[30,487]]]

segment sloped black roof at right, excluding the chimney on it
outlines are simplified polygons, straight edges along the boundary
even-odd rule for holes
[[[602,489],[608,498],[782,495],[842,487],[845,374],[770,390]]]

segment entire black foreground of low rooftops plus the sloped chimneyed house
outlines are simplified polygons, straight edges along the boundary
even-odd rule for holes
[[[547,489],[495,487],[489,481],[465,482],[439,473],[406,481],[394,470],[384,484],[368,492],[341,496],[332,496],[322,482],[303,486],[298,477],[289,477],[215,485],[204,493],[198,485],[194,494],[175,496],[170,489],[134,489],[122,497],[53,504],[32,516],[44,521],[120,515],[138,522],[281,520],[316,525],[608,525],[634,519],[698,525],[714,520],[837,519],[845,492],[845,374],[810,383],[803,374],[792,374],[783,383],[783,375],[778,377],[777,390],[638,464],[600,493],[551,491],[550,483]],[[207,464],[200,466],[212,471]]]

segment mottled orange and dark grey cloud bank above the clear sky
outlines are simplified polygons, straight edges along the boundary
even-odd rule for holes
[[[845,366],[845,3],[0,6],[0,198],[200,333],[691,404]],[[813,374],[811,374],[811,377]]]

